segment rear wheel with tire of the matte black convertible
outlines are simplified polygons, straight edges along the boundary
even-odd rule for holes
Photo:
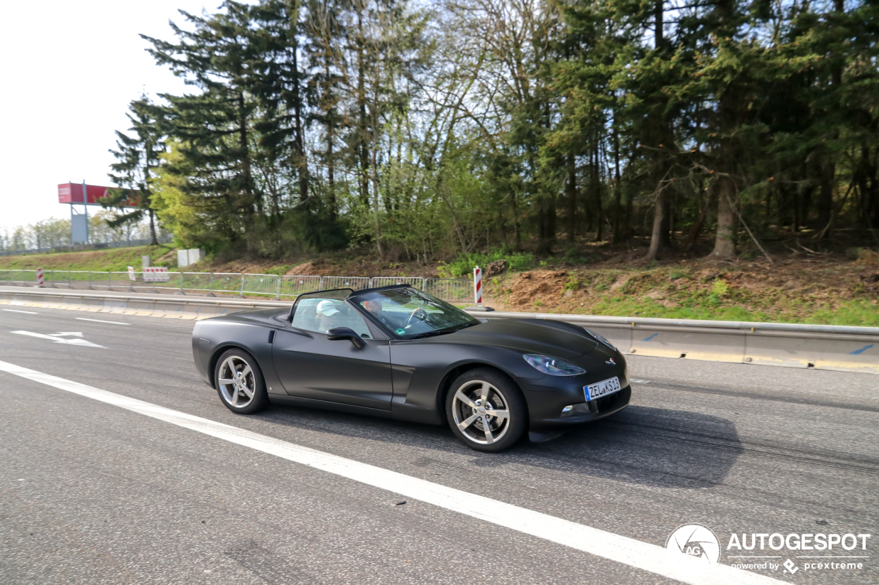
[[[227,383],[222,384],[221,380]],[[223,351],[214,367],[214,382],[222,403],[239,415],[251,415],[269,404],[263,372],[247,351],[239,348]]]

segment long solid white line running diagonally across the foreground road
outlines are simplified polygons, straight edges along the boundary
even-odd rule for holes
[[[40,384],[125,408],[165,423],[176,424],[185,429],[229,441],[229,443],[250,447],[281,459],[315,467],[350,480],[360,481],[368,486],[403,495],[406,498],[431,503],[440,508],[691,585],[778,585],[787,582],[743,571],[729,565],[709,565],[696,557],[669,553],[663,546],[650,545],[635,538],[620,536],[585,524],[577,524],[556,516],[491,500],[483,495],[470,494],[460,489],[448,488],[403,473],[345,459],[331,453],[316,451],[298,444],[287,443],[287,441],[260,435],[250,430],[239,429],[200,416],[160,407],[93,386],[86,386],[73,380],[57,378],[51,374],[30,370],[20,365],[0,361],[0,372],[8,372],[21,378],[40,382]]]

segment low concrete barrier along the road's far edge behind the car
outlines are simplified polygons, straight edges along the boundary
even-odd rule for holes
[[[290,302],[124,293],[76,293],[0,288],[0,302],[205,319],[254,308],[288,309]],[[879,374],[879,328],[749,321],[686,321],[600,315],[474,312],[478,318],[552,319],[607,337],[623,353],[752,365]]]

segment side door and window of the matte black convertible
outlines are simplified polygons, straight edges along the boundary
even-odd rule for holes
[[[318,401],[389,410],[393,397],[387,339],[374,339],[366,321],[338,299],[329,309],[319,296],[301,299],[289,328],[278,329],[272,359],[287,394]],[[323,313],[318,307],[323,307]],[[365,345],[330,341],[326,330],[353,329]]]

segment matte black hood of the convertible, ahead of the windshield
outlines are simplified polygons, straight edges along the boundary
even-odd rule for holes
[[[598,345],[585,329],[577,325],[537,319],[490,319],[432,339],[493,345],[567,360],[583,356]]]

